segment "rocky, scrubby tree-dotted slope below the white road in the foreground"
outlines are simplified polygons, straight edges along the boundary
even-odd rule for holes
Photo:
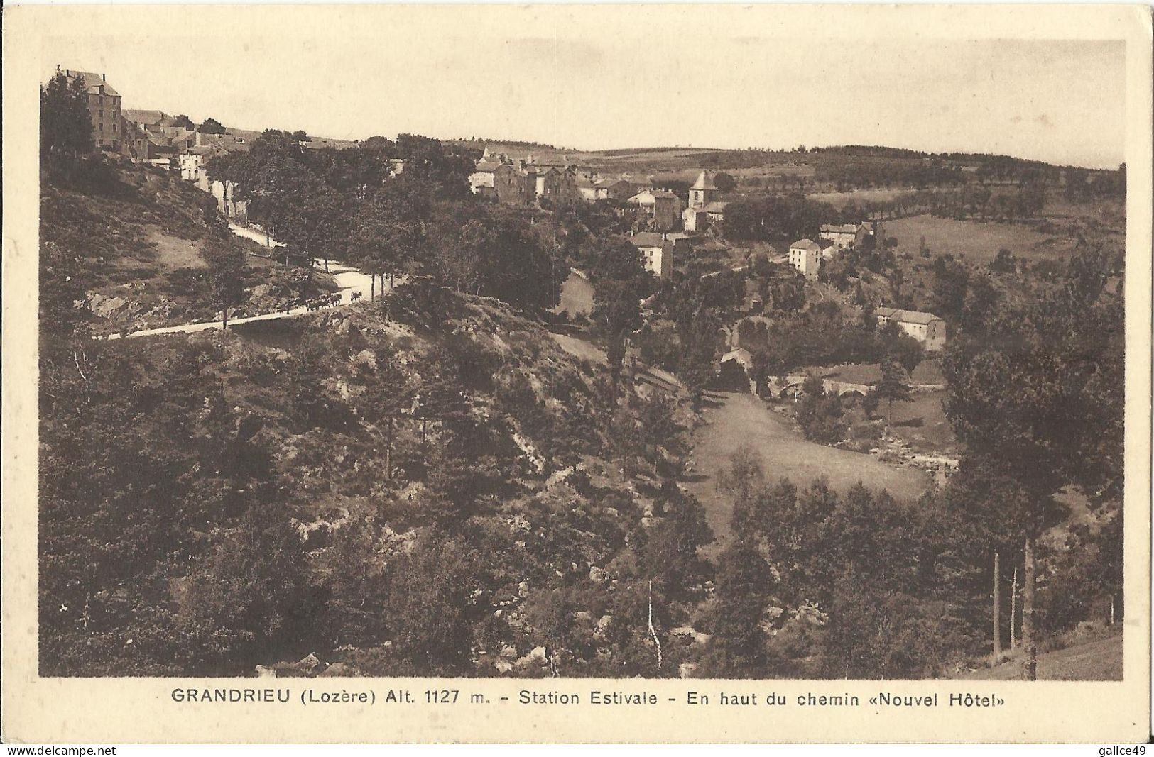
[[[93,343],[83,373],[61,347],[42,385],[44,674],[308,653],[494,672],[538,646],[523,674],[676,669],[642,611],[652,581],[668,629],[700,590],[700,510],[653,478],[675,399],[622,386],[612,410],[607,377],[508,306],[415,283],[260,332]]]

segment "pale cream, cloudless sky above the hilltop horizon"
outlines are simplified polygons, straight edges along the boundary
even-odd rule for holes
[[[578,150],[879,144],[1124,160],[1122,41],[900,27],[830,38],[796,24],[710,25],[669,7],[660,20],[634,8],[609,30],[604,13],[593,23],[540,8],[442,8],[419,22],[404,8],[330,8],[331,23],[293,25],[232,10],[222,18],[234,23],[194,10],[149,33],[138,16],[104,16],[82,36],[48,37],[42,63],[106,74],[123,107],[350,139],[407,131]]]

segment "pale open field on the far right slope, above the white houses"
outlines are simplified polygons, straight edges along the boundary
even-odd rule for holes
[[[920,240],[924,236],[926,247],[935,257],[946,252],[956,258],[965,255],[972,263],[989,263],[1003,248],[1018,257],[1033,259],[1067,256],[1072,249],[1070,242],[1040,234],[1028,226],[958,221],[928,213],[886,221],[885,235],[896,237],[902,252],[917,255]]]

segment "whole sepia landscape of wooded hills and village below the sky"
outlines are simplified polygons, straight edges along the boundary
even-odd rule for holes
[[[944,677],[1119,633],[1124,168],[350,142],[58,73],[45,674]]]

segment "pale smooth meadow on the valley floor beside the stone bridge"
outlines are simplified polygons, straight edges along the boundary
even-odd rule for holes
[[[830,486],[845,491],[862,482],[871,489],[886,489],[902,499],[919,497],[929,478],[913,468],[891,468],[870,455],[805,441],[789,423],[764,402],[747,393],[717,393],[715,404],[704,411],[705,425],[695,439],[694,465],[697,478],[687,484],[705,508],[705,516],[718,537],[712,550],[720,550],[729,537],[730,504],[717,490],[717,475],[729,464],[729,456],[741,446],[757,451],[772,482],[782,476],[799,489],[825,476]]]

